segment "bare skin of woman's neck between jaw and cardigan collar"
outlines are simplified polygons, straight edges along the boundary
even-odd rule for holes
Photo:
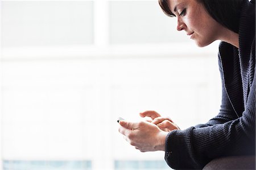
[[[220,35],[220,40],[239,48],[239,35],[236,32],[233,32],[228,28],[224,28],[224,30],[221,32],[222,35]]]

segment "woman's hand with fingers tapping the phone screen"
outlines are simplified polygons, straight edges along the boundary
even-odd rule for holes
[[[148,121],[154,123],[161,130],[170,132],[172,130],[180,130],[179,126],[177,126],[170,118],[162,117],[156,111],[144,111],[140,113],[141,117],[150,117],[152,121]]]

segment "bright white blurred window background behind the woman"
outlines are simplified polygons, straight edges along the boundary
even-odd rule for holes
[[[168,169],[117,118],[180,128],[218,113],[218,42],[199,48],[153,1],[1,1],[1,168]],[[184,105],[185,103],[185,105]]]

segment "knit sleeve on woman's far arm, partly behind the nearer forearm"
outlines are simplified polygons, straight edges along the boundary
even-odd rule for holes
[[[220,55],[218,55],[218,66],[220,68],[221,82],[222,82],[222,99],[221,99],[220,112],[216,117],[210,119],[207,123],[196,125],[195,128],[222,124],[222,123],[229,122],[229,121],[237,118],[237,115],[236,115],[231,103],[229,102],[228,95],[226,94]]]

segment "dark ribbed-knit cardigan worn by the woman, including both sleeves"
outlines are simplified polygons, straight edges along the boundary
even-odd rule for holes
[[[254,3],[254,4],[253,4]],[[201,169],[221,156],[255,155],[255,1],[242,5],[239,50],[221,42],[220,113],[204,125],[169,132],[167,164],[174,169]]]

